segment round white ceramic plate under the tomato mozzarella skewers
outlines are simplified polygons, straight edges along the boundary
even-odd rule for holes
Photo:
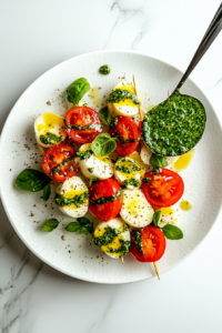
[[[101,75],[102,64],[111,65],[109,75]],[[53,193],[47,204],[42,192],[30,193],[14,185],[17,175],[26,168],[41,170],[41,153],[34,140],[33,121],[44,112],[63,115],[67,111],[65,90],[78,78],[87,78],[93,91],[83,99],[99,110],[107,97],[122,79],[132,81],[135,74],[142,105],[155,105],[167,98],[181,78],[174,67],[137,52],[98,51],[67,60],[34,81],[11,110],[4,124],[0,145],[1,198],[9,220],[24,244],[52,268],[85,281],[98,283],[127,283],[155,275],[153,264],[139,263],[130,255],[112,260],[93,245],[90,235],[64,230],[73,219],[60,213],[53,203]],[[190,254],[209,233],[221,208],[222,131],[215,112],[204,93],[191,80],[181,92],[198,98],[206,110],[206,129],[198,144],[189,169],[181,175],[185,191],[183,200],[192,202],[190,211],[178,210],[179,225],[184,238],[168,241],[167,251],[158,262],[160,273],[172,269]],[[50,101],[51,105],[47,102]],[[41,224],[57,218],[60,225],[51,233]]]

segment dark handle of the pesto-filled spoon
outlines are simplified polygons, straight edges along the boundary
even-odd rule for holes
[[[198,50],[195,51],[195,54],[193,56],[193,59],[191,60],[185,73],[183,74],[182,79],[180,80],[178,87],[173,91],[172,94],[174,94],[178,90],[181,89],[192,70],[195,68],[195,65],[199,63],[203,54],[208,51],[219,32],[222,30],[222,3],[220,4],[213,20],[211,21],[211,24],[209,26]]]

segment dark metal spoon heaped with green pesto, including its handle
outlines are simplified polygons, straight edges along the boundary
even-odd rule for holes
[[[222,3],[172,94],[143,119],[143,140],[153,153],[161,157],[182,155],[202,138],[206,122],[205,109],[198,99],[181,94],[180,89],[221,30]]]

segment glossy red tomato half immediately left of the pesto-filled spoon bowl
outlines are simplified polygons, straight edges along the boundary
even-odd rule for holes
[[[140,138],[140,131],[137,123],[128,117],[117,117],[118,123],[115,127],[110,127],[109,133],[112,138],[123,137],[124,140],[137,140]],[[128,157],[138,148],[140,141],[124,143],[123,140],[117,142],[115,152],[121,157]]]

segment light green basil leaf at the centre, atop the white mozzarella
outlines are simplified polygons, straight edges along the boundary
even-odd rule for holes
[[[117,148],[117,142],[110,137],[109,133],[99,134],[91,145],[91,150],[95,157],[107,157],[111,154]]]

